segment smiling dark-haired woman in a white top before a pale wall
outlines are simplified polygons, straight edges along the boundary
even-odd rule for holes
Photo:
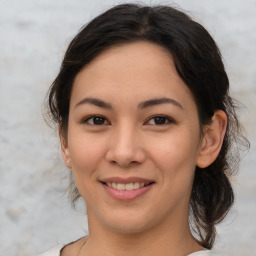
[[[174,8],[118,5],[85,26],[49,109],[89,235],[44,255],[223,255],[210,249],[240,132],[228,90],[214,40]]]

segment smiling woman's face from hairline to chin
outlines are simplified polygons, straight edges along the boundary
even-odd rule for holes
[[[140,232],[186,221],[200,135],[165,49],[135,42],[96,57],[74,81],[62,147],[89,225]]]

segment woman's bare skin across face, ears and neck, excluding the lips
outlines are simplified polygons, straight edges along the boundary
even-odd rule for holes
[[[171,101],[142,104],[162,98]],[[100,124],[92,115],[101,116]],[[61,134],[63,158],[86,202],[89,236],[62,255],[179,256],[203,249],[189,230],[190,193],[196,165],[216,159],[225,129],[226,115],[216,111],[201,133],[193,96],[161,46],[135,42],[97,56],[76,76],[68,132]],[[100,182],[134,176],[154,184],[128,202],[110,197]]]

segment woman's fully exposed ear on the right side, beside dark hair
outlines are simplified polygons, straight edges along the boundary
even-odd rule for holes
[[[227,115],[222,110],[217,110],[212,122],[204,127],[203,138],[197,157],[196,165],[206,168],[218,157],[227,128]]]

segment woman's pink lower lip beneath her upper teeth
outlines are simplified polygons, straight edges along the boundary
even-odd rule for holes
[[[140,197],[147,191],[149,191],[152,188],[153,184],[154,183],[147,185],[146,187],[141,187],[141,188],[133,189],[133,190],[118,190],[118,189],[108,187],[105,184],[102,184],[102,185],[105,188],[105,190],[107,191],[107,193],[114,199],[117,199],[120,201],[131,201],[131,200],[134,200],[134,199]]]

